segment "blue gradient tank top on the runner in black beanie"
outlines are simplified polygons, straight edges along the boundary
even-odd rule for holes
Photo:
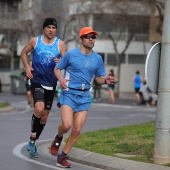
[[[43,86],[56,87],[57,78],[54,75],[54,57],[60,58],[59,38],[56,37],[52,44],[44,44],[42,35],[37,37],[33,51],[32,67],[34,71],[32,82]]]

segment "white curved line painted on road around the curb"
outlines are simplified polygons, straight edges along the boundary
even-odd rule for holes
[[[47,141],[49,141],[49,140],[41,140],[41,141],[39,141],[39,142],[47,142]],[[13,154],[14,154],[15,156],[21,158],[21,159],[24,159],[25,161],[32,162],[32,163],[37,164],[37,165],[41,165],[41,166],[44,166],[44,167],[47,167],[47,168],[51,168],[51,169],[63,170],[63,168],[58,168],[58,167],[56,167],[56,166],[48,165],[48,164],[39,162],[39,161],[37,161],[37,160],[35,160],[35,159],[31,159],[31,158],[26,157],[25,155],[23,155],[23,154],[21,153],[21,150],[22,150],[22,148],[23,148],[25,145],[27,145],[27,142],[21,143],[21,144],[15,146],[14,149],[13,149]]]

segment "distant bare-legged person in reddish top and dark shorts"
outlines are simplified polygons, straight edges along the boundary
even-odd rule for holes
[[[115,83],[118,81],[117,76],[114,74],[113,69],[110,70],[111,76],[114,77],[114,83],[108,85],[108,92],[109,92],[109,103],[114,104],[115,103]]]

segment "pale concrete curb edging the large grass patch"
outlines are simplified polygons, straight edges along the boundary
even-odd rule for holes
[[[61,143],[60,151],[63,149],[64,144],[64,142]],[[48,142],[40,144],[38,146],[38,152],[40,155],[56,161],[57,157],[52,156],[49,152],[50,145],[51,143]],[[105,170],[169,170],[169,167],[162,165],[102,155],[74,147],[68,154],[68,160]]]

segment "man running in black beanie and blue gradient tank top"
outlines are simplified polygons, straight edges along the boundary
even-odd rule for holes
[[[34,98],[31,135],[27,145],[30,157],[38,157],[35,141],[45,127],[57,85],[54,67],[66,52],[65,43],[56,37],[56,32],[57,21],[54,18],[46,18],[43,34],[30,39],[21,52],[26,76],[31,79],[31,91]],[[27,54],[30,51],[33,51],[32,67],[27,61]]]

